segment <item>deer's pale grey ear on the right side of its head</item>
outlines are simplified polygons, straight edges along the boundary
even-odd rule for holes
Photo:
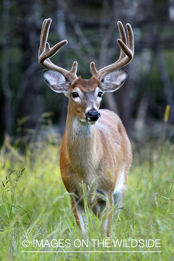
[[[118,90],[128,76],[128,71],[119,70],[116,72],[108,73],[101,81],[101,89],[104,92],[114,92]]]

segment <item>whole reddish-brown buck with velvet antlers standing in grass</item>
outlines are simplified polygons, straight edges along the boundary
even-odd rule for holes
[[[43,75],[48,86],[69,98],[66,131],[60,152],[61,176],[70,193],[73,213],[82,233],[86,231],[84,195],[80,183],[87,189],[88,208],[101,218],[104,233],[110,236],[113,211],[122,207],[128,171],[132,160],[131,144],[119,117],[109,110],[99,110],[104,92],[119,89],[127,78],[126,70],[134,53],[133,31],[126,24],[128,43],[124,27],[118,21],[121,48],[119,59],[97,71],[91,62],[92,77],[84,80],[77,77],[77,62],[70,71],[50,61],[50,57],[65,44],[61,41],[50,48],[47,38],[51,19],[45,19],[41,30],[39,63],[46,68]],[[115,215],[115,214],[114,214]]]

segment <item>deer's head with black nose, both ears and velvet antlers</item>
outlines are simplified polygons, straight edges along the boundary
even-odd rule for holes
[[[65,44],[61,41],[50,48],[47,38],[51,19],[45,19],[41,30],[41,43],[39,48],[39,63],[44,70],[44,78],[48,86],[57,93],[64,93],[69,98],[69,108],[82,122],[95,124],[100,117],[99,106],[104,92],[114,92],[119,89],[127,78],[126,70],[119,70],[128,64],[134,53],[133,31],[130,24],[126,24],[128,32],[128,44],[126,33],[122,23],[118,22],[120,38],[117,42],[121,48],[119,59],[101,70],[97,71],[95,64],[91,62],[92,77],[89,80],[77,77],[77,61],[73,63],[70,71],[60,68],[50,61],[50,57]]]

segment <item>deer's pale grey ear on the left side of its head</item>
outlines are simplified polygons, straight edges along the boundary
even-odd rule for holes
[[[71,83],[62,75],[53,70],[44,70],[44,78],[48,86],[56,93],[64,93],[67,97]]]

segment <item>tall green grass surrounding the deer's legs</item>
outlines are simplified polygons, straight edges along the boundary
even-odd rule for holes
[[[116,222],[115,231],[110,241],[104,238],[102,221],[97,220],[93,213],[89,213],[88,247],[85,244],[82,247],[82,239],[87,244],[87,237],[79,236],[70,196],[61,180],[59,142],[40,140],[29,146],[27,156],[23,156],[15,146],[10,145],[7,137],[0,154],[0,260],[173,260],[174,144],[155,141],[141,148],[132,143],[132,147],[133,162],[124,206]],[[17,171],[14,171],[15,169]],[[20,174],[23,173],[20,177],[19,171]],[[52,247],[48,243],[53,239]],[[98,240],[108,240],[107,243],[113,240],[116,242],[117,239],[119,243],[122,240],[122,246],[118,247],[117,244],[114,247],[113,244],[113,251],[161,252],[99,252],[110,251],[110,248],[103,247],[102,244],[98,247]],[[131,247],[131,240],[140,239],[144,240],[145,244],[146,240],[160,240],[157,242],[160,242],[161,247]],[[30,242],[29,247],[23,247],[24,240]],[[54,247],[55,240],[59,240],[58,247]],[[80,247],[74,246],[75,240],[76,245],[81,241]],[[123,247],[123,240],[130,247]],[[70,247],[67,247],[68,242],[71,244]]]

